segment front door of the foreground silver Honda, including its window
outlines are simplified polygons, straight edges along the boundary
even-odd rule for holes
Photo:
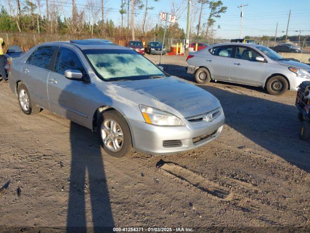
[[[67,79],[64,76],[64,71],[67,69],[81,71],[84,81]],[[59,48],[47,81],[50,110],[87,126],[87,118],[93,117],[89,116],[92,85],[85,67],[74,50]]]

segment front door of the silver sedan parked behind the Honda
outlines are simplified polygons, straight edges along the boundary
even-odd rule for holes
[[[236,46],[235,56],[232,58],[231,82],[262,85],[266,78],[267,63],[256,61],[258,56],[263,57],[262,54],[249,47]]]

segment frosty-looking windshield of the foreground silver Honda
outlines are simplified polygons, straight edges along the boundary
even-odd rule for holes
[[[84,50],[100,78],[106,81],[131,81],[166,77],[165,73],[133,50]]]

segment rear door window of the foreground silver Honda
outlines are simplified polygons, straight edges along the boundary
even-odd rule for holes
[[[50,63],[54,54],[55,46],[42,46],[35,50],[26,63],[36,67],[50,69]]]

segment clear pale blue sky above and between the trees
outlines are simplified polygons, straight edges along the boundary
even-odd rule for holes
[[[101,0],[93,0],[100,6]],[[116,25],[121,24],[121,14],[119,9],[121,6],[121,0],[104,0],[106,18],[112,19]],[[124,0],[126,1],[126,0]],[[199,5],[195,5],[195,1],[192,0],[192,28],[196,31],[195,27],[198,23]],[[45,0],[42,0],[43,8]],[[71,11],[70,0],[55,0],[55,2],[68,2],[68,4],[62,4],[65,7],[63,11]],[[87,0],[76,0],[78,7],[84,8]],[[187,0],[148,0],[150,7],[154,9],[149,10],[147,17],[147,27],[153,27],[157,22],[162,22],[159,19],[160,12],[171,12],[171,3],[174,2],[176,7],[181,6],[183,11],[179,14],[177,20],[180,27],[186,31],[186,14],[187,14]],[[242,3],[242,0],[222,0],[223,5],[227,6],[227,12],[223,14],[214,27],[214,34],[216,38],[233,39],[239,38],[240,33],[240,12],[241,9],[237,6]],[[244,7],[244,20],[242,37],[245,35],[261,36],[269,35],[274,36],[276,32],[276,24],[278,22],[277,36],[285,35],[288,15],[291,9],[291,19],[289,24],[289,35],[310,34],[310,0],[243,0],[244,4],[248,6]],[[44,9],[42,9],[44,11]],[[136,25],[141,25],[144,9],[137,10],[135,22]],[[206,21],[209,15],[209,9],[206,8],[202,14],[202,23]],[[127,17],[125,15],[124,24],[126,25]],[[217,25],[220,25],[220,29],[217,29]],[[298,31],[298,32],[295,32]]]

